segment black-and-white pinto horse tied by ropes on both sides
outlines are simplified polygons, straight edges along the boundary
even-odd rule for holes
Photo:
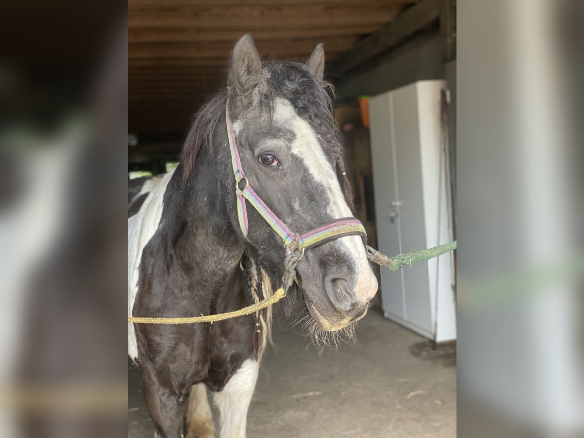
[[[352,216],[324,60],[321,44],[303,64],[262,62],[251,36],[237,42],[227,87],[197,113],[179,166],[128,219],[129,317],[258,303],[279,285],[289,253],[300,252],[286,300],[303,297],[312,333],[350,331],[366,314],[377,280],[363,236],[335,231],[306,248],[300,237]],[[284,234],[290,241],[279,227],[295,231]],[[220,437],[245,437],[271,319],[268,307],[213,324],[128,322],[128,355],[158,436],[213,437],[208,390]]]

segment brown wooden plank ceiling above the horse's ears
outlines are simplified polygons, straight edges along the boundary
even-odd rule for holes
[[[128,128],[185,131],[225,84],[231,50],[251,33],[263,60],[328,61],[416,0],[129,0]]]

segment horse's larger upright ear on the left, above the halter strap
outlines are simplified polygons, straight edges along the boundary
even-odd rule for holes
[[[255,44],[253,44],[253,39],[248,33],[237,41],[233,49],[227,86],[232,92],[245,96],[262,79],[262,61]]]

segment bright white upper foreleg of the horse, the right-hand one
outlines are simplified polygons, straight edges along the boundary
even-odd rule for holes
[[[246,360],[221,392],[214,393],[220,414],[220,437],[245,438],[249,402],[258,380],[259,363]]]

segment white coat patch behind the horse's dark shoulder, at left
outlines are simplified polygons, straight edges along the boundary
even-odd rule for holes
[[[166,186],[171,180],[175,169],[166,173],[154,186],[154,178],[148,180],[154,190],[144,200],[144,204],[137,214],[128,219],[128,317],[132,316],[134,301],[138,294],[138,275],[142,250],[148,244],[162,217],[162,207]],[[145,186],[146,184],[144,184]],[[144,190],[144,187],[142,187]],[[138,357],[138,343],[134,332],[134,324],[128,322],[128,356],[136,360]]]

